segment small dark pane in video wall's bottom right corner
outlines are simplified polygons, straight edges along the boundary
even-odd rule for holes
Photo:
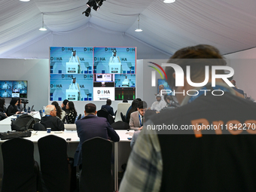
[[[115,87],[114,100],[134,100],[136,97],[135,87]]]

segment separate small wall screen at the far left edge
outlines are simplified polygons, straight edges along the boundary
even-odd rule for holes
[[[28,81],[0,81],[0,97],[27,98]]]

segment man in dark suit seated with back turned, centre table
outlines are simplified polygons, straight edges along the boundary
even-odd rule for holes
[[[76,121],[78,137],[80,142],[77,150],[75,151],[74,166],[79,166],[82,163],[82,145],[83,142],[94,137],[102,137],[104,139],[110,139],[113,142],[119,142],[119,136],[108,123],[108,120],[104,117],[96,116],[96,105],[88,103],[84,107],[85,117]]]

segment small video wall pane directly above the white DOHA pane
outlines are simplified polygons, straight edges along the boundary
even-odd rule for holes
[[[114,87],[114,74],[94,74],[93,87]]]

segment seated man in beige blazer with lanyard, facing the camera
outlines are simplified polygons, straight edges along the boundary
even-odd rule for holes
[[[142,130],[143,128],[143,121],[144,121],[144,114],[146,109],[148,108],[148,104],[144,101],[138,102],[138,111],[131,113],[130,116],[130,129],[131,130]]]

